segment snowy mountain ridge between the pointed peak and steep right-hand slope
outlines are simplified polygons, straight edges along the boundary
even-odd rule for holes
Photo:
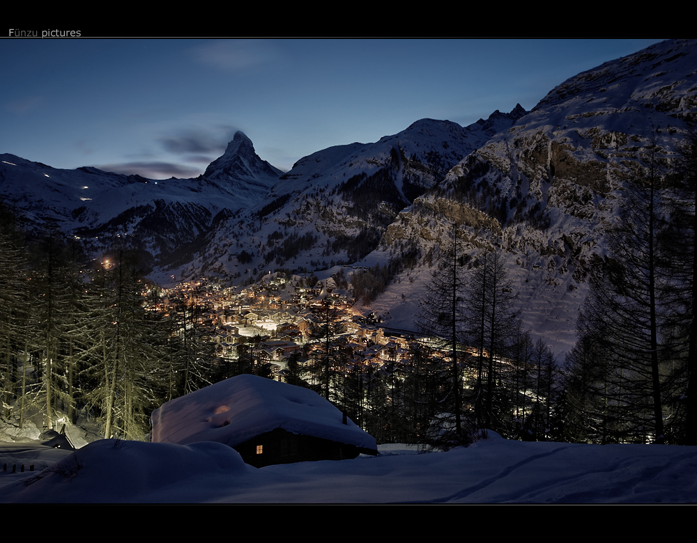
[[[377,246],[399,211],[523,113],[520,106],[496,111],[469,127],[422,119],[376,143],[304,157],[281,175],[266,200],[222,221],[208,249],[182,275],[204,266],[235,275],[242,266],[315,269],[355,262]]]

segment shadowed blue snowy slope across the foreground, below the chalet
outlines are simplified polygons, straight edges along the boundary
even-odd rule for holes
[[[2,462],[10,454],[0,446]],[[522,443],[490,433],[448,453],[383,449],[255,469],[219,443],[107,439],[38,473],[0,474],[0,502],[694,503],[697,448]]]

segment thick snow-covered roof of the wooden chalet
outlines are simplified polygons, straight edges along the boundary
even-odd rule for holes
[[[313,391],[238,375],[169,400],[153,412],[153,442],[217,441],[231,447],[277,428],[377,450],[375,439]]]

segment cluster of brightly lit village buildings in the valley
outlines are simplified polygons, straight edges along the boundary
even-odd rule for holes
[[[332,278],[315,281],[277,272],[236,288],[201,278],[162,290],[151,309],[176,313],[181,326],[215,342],[218,358],[245,356],[279,381],[293,355],[308,363],[330,349],[344,364],[376,367],[409,358],[410,338],[385,331],[372,313],[353,310],[351,293],[337,289]]]

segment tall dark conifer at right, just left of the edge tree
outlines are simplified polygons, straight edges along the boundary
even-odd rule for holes
[[[659,255],[664,190],[648,151],[648,170],[625,187],[618,222],[608,231],[608,257],[598,262],[579,318],[581,349],[592,344],[602,353],[594,373],[596,394],[604,398],[603,442],[665,440],[670,269]],[[576,359],[585,354],[577,351]]]

